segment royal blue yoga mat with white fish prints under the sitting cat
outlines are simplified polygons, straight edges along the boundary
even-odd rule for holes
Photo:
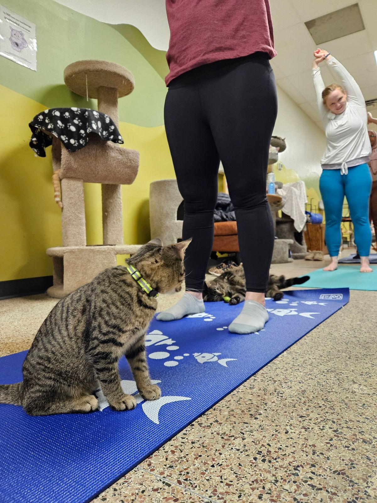
[[[130,411],[28,416],[0,405],[0,501],[81,503],[118,480],[180,430],[344,306],[348,289],[286,292],[267,300],[270,319],[259,333],[231,334],[242,304],[206,303],[206,312],[152,321],[146,339],[151,379],[162,397]],[[0,359],[0,383],[22,380],[26,351]],[[122,387],[136,394],[125,358]]]

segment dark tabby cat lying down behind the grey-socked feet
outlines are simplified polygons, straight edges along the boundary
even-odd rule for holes
[[[302,278],[288,278],[285,276],[274,276],[271,274],[268,278],[268,284],[265,291],[266,297],[273,300],[280,300],[284,297],[282,288],[288,288],[292,285],[302,285],[308,281],[309,276]],[[213,281],[204,284],[203,300],[205,302],[218,302],[226,300],[229,304],[239,304],[245,300],[246,286],[245,273],[242,267],[233,271],[226,271]]]

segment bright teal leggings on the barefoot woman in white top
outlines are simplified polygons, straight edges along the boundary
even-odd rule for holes
[[[348,168],[348,175],[340,170],[323,170],[319,189],[325,207],[325,239],[330,257],[337,257],[342,242],[340,222],[344,196],[352,219],[355,243],[360,257],[368,257],[371,244],[369,225],[369,195],[372,177],[367,164]]]

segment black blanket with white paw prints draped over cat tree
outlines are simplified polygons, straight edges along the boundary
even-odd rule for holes
[[[106,114],[88,108],[50,108],[37,114],[29,122],[32,137],[30,147],[40,157],[46,157],[45,148],[52,144],[56,136],[67,150],[75,152],[89,141],[89,133],[97,133],[104,141],[123,143],[117,126]]]

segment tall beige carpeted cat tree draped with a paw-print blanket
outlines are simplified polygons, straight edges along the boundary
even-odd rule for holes
[[[133,91],[134,77],[119,64],[83,60],[65,68],[64,82],[79,96],[97,98],[99,112],[75,107],[52,109],[30,123],[36,131],[31,146],[38,143],[38,134],[44,135],[44,146],[52,143],[54,176],[58,174],[61,182],[63,246],[47,249],[53,260],[53,286],[47,293],[56,298],[115,266],[117,255],[135,253],[140,247],[124,244],[121,192],[122,184],[132,184],[136,178],[139,152],[116,144],[123,143],[118,132],[118,98]],[[84,182],[102,184],[101,245],[86,245]]]

